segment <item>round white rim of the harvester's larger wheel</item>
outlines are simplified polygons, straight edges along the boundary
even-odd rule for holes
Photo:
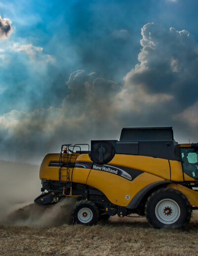
[[[155,206],[157,219],[164,224],[172,224],[179,219],[180,207],[172,199],[162,199]]]

